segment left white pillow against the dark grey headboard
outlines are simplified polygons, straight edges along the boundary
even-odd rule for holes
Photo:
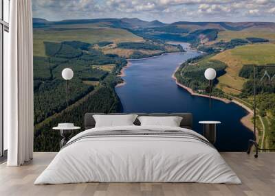
[[[93,115],[96,126],[95,127],[117,127],[134,125],[133,122],[137,118],[136,114],[122,114],[122,115]]]

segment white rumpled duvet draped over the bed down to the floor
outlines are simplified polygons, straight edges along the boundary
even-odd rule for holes
[[[124,126],[97,131],[182,130],[180,127]],[[219,152],[199,140],[177,136],[83,138],[61,149],[34,184],[78,182],[201,182],[241,184]]]

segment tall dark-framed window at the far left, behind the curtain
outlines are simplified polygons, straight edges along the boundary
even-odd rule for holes
[[[0,0],[0,156],[7,149],[7,133],[3,130],[3,67],[8,63],[10,0]]]

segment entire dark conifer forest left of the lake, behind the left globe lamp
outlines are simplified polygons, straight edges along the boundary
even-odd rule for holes
[[[74,122],[83,127],[85,112],[120,111],[113,88],[120,82],[115,75],[126,60],[104,55],[85,42],[44,42],[44,46],[47,56],[34,56],[34,149],[58,151],[59,133],[52,131],[58,123]],[[106,66],[111,69],[107,71]],[[69,108],[61,77],[67,67],[74,71],[69,81]]]

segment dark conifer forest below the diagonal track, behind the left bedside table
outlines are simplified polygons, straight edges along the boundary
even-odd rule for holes
[[[59,151],[60,132],[52,130],[52,127],[60,122],[73,122],[76,126],[84,127],[84,115],[87,112],[110,113],[119,110],[120,101],[113,88],[106,84],[98,86],[96,90],[61,113],[34,125],[34,151]]]

